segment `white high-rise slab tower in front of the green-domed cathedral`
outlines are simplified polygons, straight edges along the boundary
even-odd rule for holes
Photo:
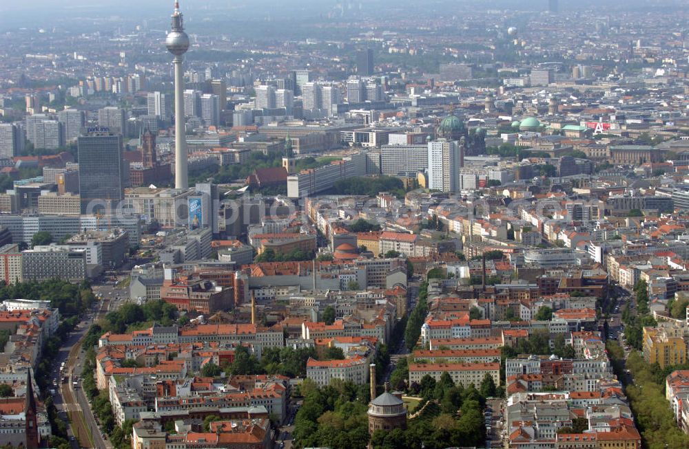
[[[461,167],[462,155],[457,142],[439,139],[428,143],[429,188],[457,192]]]

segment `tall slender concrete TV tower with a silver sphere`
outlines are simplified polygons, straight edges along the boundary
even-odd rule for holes
[[[172,12],[172,31],[165,39],[167,51],[174,55],[174,187],[185,189],[189,187],[187,175],[187,142],[185,140],[184,123],[184,72],[182,63],[184,54],[189,50],[189,36],[184,32],[184,21],[179,10],[179,1],[174,2]]]

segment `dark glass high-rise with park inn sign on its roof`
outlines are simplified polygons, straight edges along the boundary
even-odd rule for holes
[[[124,198],[125,162],[122,158],[122,135],[96,132],[80,135],[79,194],[81,212],[112,211]]]

